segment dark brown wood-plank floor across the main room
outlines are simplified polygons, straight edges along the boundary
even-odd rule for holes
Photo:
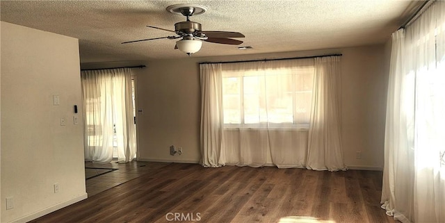
[[[396,222],[378,171],[139,164],[136,178],[32,222]]]

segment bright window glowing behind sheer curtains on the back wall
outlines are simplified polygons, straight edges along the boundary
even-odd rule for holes
[[[314,65],[223,69],[224,124],[309,127]]]

